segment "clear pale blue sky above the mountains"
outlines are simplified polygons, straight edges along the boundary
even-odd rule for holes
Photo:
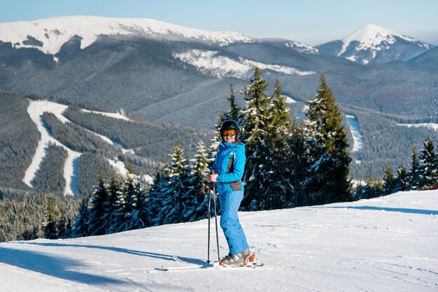
[[[0,22],[64,15],[153,18],[309,45],[376,24],[438,45],[438,0],[0,0]]]

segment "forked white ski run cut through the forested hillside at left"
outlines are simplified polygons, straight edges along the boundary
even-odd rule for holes
[[[61,105],[59,103],[52,103],[50,101],[31,101],[27,112],[31,117],[32,121],[36,124],[38,131],[41,133],[41,140],[38,142],[36,147],[36,152],[31,161],[30,166],[24,173],[23,182],[32,187],[32,181],[38,172],[41,163],[47,152],[49,143],[61,146],[66,149],[68,154],[67,159],[64,163],[64,179],[66,181],[66,187],[64,189],[64,195],[67,194],[78,194],[78,184],[77,184],[77,173],[78,173],[78,158],[80,157],[79,152],[75,152],[68,147],[64,146],[58,140],[53,138],[49,129],[45,126],[43,122],[43,113],[52,112],[58,119],[62,122],[68,122],[62,112],[68,108],[66,105]]]

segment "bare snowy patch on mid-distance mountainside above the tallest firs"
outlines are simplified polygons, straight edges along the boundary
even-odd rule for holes
[[[311,75],[313,71],[299,71],[288,66],[264,64],[239,57],[239,61],[218,55],[218,51],[190,50],[174,54],[174,58],[197,67],[198,71],[217,78],[235,77],[247,79],[253,73],[254,67],[268,69],[288,75]]]

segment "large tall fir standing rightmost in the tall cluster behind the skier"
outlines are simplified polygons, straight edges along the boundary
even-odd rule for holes
[[[306,113],[306,148],[309,171],[304,182],[313,204],[353,200],[346,129],[341,110],[334,101],[325,77],[320,78],[318,94],[309,101]]]

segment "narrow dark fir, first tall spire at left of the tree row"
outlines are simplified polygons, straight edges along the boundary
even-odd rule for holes
[[[104,175],[99,173],[97,186],[94,187],[90,198],[90,211],[88,212],[88,233],[90,235],[102,235],[106,233],[108,224],[104,221],[106,215],[105,204],[108,200],[108,191]]]

